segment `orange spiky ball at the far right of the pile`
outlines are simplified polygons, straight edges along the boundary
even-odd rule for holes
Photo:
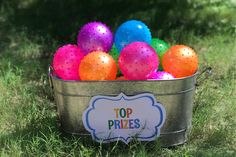
[[[162,58],[163,69],[174,77],[193,75],[198,69],[198,56],[185,45],[172,46]]]

